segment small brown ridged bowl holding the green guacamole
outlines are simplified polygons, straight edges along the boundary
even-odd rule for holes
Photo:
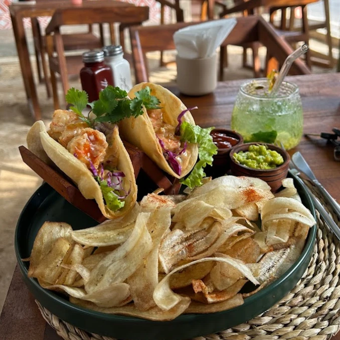
[[[264,170],[253,169],[237,163],[233,157],[234,153],[239,151],[248,151],[250,145],[265,145],[268,149],[278,152],[283,157],[283,164],[275,167],[274,169]],[[229,153],[229,156],[232,175],[257,177],[267,182],[274,193],[281,187],[282,180],[287,177],[290,157],[286,150],[283,150],[278,146],[267,143],[245,143],[242,145],[236,145]]]

